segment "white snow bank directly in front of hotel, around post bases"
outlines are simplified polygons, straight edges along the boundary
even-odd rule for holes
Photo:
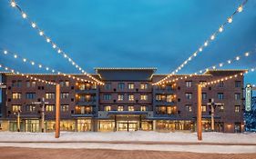
[[[0,142],[200,142],[200,143],[230,143],[230,144],[256,144],[256,134],[223,134],[203,133],[203,140],[197,140],[196,133],[158,133],[158,132],[61,132],[56,139],[54,133],[17,133],[0,132]]]

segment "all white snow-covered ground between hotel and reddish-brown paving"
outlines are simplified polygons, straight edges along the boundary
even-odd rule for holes
[[[6,143],[8,142],[8,143]],[[38,143],[9,143],[9,142],[38,142]],[[40,143],[41,142],[41,143]],[[53,143],[42,143],[53,142]],[[70,142],[70,143],[63,143]],[[82,142],[82,143],[79,143]],[[84,142],[84,143],[83,143]],[[91,143],[86,143],[91,142]],[[95,143],[93,143],[95,142]],[[100,143],[105,142],[105,143]],[[107,142],[107,143],[106,143]],[[118,142],[118,144],[108,143]],[[135,142],[124,143],[121,142]],[[136,142],[151,142],[139,144]],[[160,142],[152,144],[154,142]],[[162,144],[173,142],[174,144]],[[204,143],[204,144],[179,144]],[[207,144],[209,143],[209,144]],[[218,144],[256,144],[256,134],[221,134],[203,133],[203,141],[197,140],[196,133],[158,133],[158,132],[62,132],[56,139],[54,133],[0,133],[0,146],[32,147],[32,148],[91,148],[116,150],[153,150],[153,151],[179,151],[195,153],[219,154],[256,154],[256,145],[212,145]]]

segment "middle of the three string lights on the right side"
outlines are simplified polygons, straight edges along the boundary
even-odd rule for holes
[[[251,54],[254,54],[255,52],[252,52]],[[233,61],[235,62],[235,61],[239,61],[239,60],[241,60],[241,57],[248,57],[249,55],[251,55],[250,54],[250,52],[246,52],[246,53],[244,53],[244,54],[242,54],[241,56],[235,56],[235,57],[233,57]],[[239,58],[238,58],[239,57]],[[218,65],[212,65],[212,66],[210,66],[210,67],[207,67],[207,68],[205,68],[205,69],[202,69],[202,70],[200,70],[200,71],[198,71],[198,72],[195,72],[195,73],[193,73],[193,74],[190,74],[189,76],[192,76],[192,75],[200,75],[200,74],[202,74],[202,73],[204,73],[204,72],[208,72],[208,71],[210,71],[210,69],[213,69],[213,70],[216,70],[217,69],[217,66],[219,66],[219,67],[222,67],[223,65],[230,65],[232,63],[232,60],[230,59],[230,60],[227,60],[226,61],[226,63],[220,63],[220,64],[218,64]],[[172,76],[172,75],[169,75],[169,77],[170,76]],[[186,76],[185,76],[186,77]],[[182,79],[182,77],[180,77],[180,78],[176,78],[176,81],[178,81],[178,80],[181,80]],[[154,83],[154,84],[152,84],[152,85],[158,85],[158,84],[165,84],[165,83],[170,83],[170,82],[174,82],[173,80],[169,80],[169,81],[162,81],[162,82],[157,82],[157,83]]]

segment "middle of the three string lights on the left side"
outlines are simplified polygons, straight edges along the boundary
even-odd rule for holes
[[[0,48],[0,50],[1,50],[1,48]],[[5,53],[5,51],[4,51],[4,53]],[[36,65],[36,63],[34,61],[28,60],[28,59],[26,59],[24,57],[21,57],[19,55],[15,55],[14,53],[12,53],[10,51],[9,51],[9,55],[14,55],[15,58],[20,58],[25,63],[28,62],[31,65]],[[49,72],[52,72],[52,73],[57,72],[57,75],[64,75],[64,76],[66,76],[66,74],[61,73],[59,71],[56,71],[55,69],[50,69],[48,66],[44,66],[44,65],[41,65],[41,64],[37,64],[37,65],[38,65],[39,68],[46,68],[46,71],[49,71]],[[90,80],[86,80],[86,79],[82,79],[82,78],[77,78],[74,75],[70,75],[69,78],[72,78],[72,79],[77,80],[77,81],[88,82],[88,83],[91,83],[91,84],[100,84],[100,83],[97,83],[95,81],[90,81]]]

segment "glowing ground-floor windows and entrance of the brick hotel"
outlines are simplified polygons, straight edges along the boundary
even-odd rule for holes
[[[17,122],[19,121],[19,122]],[[116,132],[116,131],[158,131],[158,132],[195,132],[195,120],[163,120],[145,119],[139,115],[115,115],[108,119],[96,119],[92,117],[77,117],[62,119],[61,131],[70,132]],[[1,131],[11,132],[54,132],[55,120],[46,119],[44,125],[36,118],[0,120]],[[241,133],[244,125],[242,123],[224,123],[215,121],[214,131],[223,133]],[[202,120],[203,131],[212,131],[210,119]]]

